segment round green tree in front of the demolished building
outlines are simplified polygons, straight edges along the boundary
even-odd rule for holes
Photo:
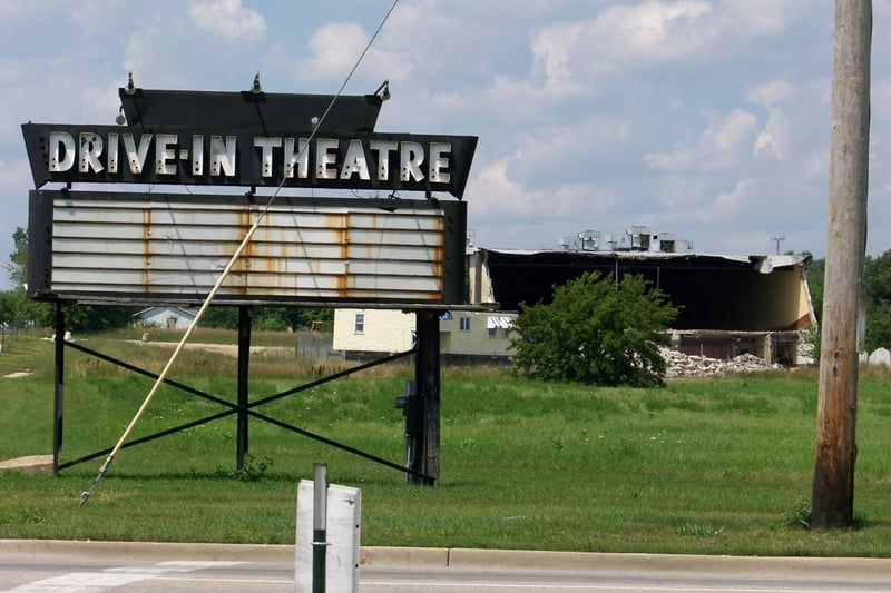
[[[659,344],[678,308],[639,276],[621,281],[588,273],[554,287],[549,304],[521,305],[515,363],[544,380],[593,385],[665,385]]]

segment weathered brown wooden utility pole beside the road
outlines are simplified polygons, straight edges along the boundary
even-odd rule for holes
[[[858,316],[863,315],[872,1],[835,0],[829,162],[829,245],[820,343],[811,526],[854,518]]]

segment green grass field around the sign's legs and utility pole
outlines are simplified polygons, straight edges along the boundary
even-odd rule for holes
[[[136,337],[81,343],[157,372],[170,348],[126,342]],[[295,358],[290,339],[255,336],[283,347],[252,357],[252,399],[333,368]],[[198,332],[194,340],[235,336]],[[31,375],[0,378],[0,459],[51,453],[52,348],[38,334],[7,336],[0,375]],[[393,398],[411,374],[379,367],[258,411],[401,463]],[[186,352],[170,378],[235,398],[234,357]],[[79,495],[104,456],[59,477],[0,475],[0,537],[290,543],[297,482],[326,463],[331,482],[362,490],[363,545],[889,556],[890,380],[861,377],[852,530],[800,525],[814,463],[813,369],[628,389],[447,367],[437,487],[407,485],[396,471],[254,419],[251,459],[236,476],[229,416],[124,449],[84,507]],[[62,462],[114,446],[150,386],[67,349]],[[164,387],[133,438],[222,409]]]

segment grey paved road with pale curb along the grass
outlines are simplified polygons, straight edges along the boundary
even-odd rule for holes
[[[891,591],[891,561],[369,548],[363,593]],[[293,592],[288,546],[0,540],[0,591]]]

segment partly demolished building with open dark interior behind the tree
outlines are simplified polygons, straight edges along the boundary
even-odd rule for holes
[[[474,249],[469,300],[502,312],[548,302],[555,285],[587,271],[617,280],[643,276],[681,308],[673,347],[727,359],[742,354],[771,364],[799,363],[800,332],[815,322],[807,255],[705,255],[648,250]]]

